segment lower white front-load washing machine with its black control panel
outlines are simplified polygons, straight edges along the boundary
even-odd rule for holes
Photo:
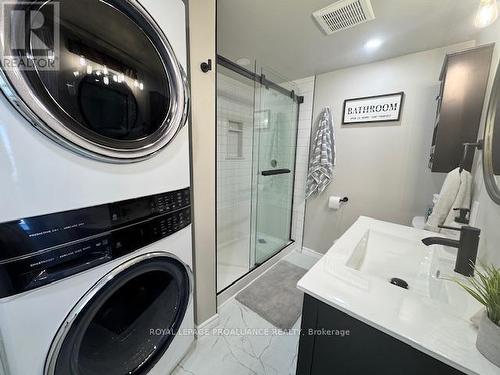
[[[167,220],[3,263],[3,373],[169,374],[193,343],[194,322],[190,226],[157,240]]]

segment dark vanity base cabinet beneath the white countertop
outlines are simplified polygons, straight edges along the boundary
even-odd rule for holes
[[[307,294],[302,314],[297,375],[463,375]]]

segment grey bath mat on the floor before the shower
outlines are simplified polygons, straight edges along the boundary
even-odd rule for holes
[[[297,289],[297,282],[306,272],[281,261],[240,292],[236,300],[272,325],[288,330],[301,314],[303,293]]]

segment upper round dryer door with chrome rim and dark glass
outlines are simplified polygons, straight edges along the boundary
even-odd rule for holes
[[[136,0],[0,2],[0,87],[44,134],[92,158],[130,162],[185,124],[185,73]],[[184,20],[162,27],[185,35]]]

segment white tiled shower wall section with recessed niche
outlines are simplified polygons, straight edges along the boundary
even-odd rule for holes
[[[217,289],[250,269],[253,84],[217,75]]]

